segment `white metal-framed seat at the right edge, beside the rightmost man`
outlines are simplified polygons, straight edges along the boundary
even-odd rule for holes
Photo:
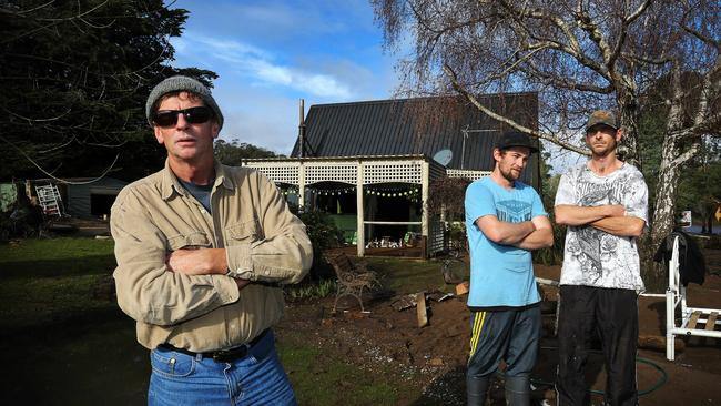
[[[676,308],[681,306],[681,324],[676,325]],[[676,358],[673,338],[677,335],[721,338],[721,332],[715,331],[721,325],[718,319],[721,309],[689,307],[686,302],[686,286],[679,275],[679,237],[673,238],[673,251],[669,261],[669,288],[666,291],[666,357]],[[699,328],[699,324],[703,328]]]

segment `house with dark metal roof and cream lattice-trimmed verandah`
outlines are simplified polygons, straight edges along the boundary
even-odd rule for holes
[[[538,128],[536,93],[490,94],[480,103]],[[444,224],[424,210],[443,176],[476,180],[494,168],[506,123],[460,98],[396,99],[311,106],[290,158],[243,162],[273,180],[303,207],[333,213],[363,256],[366,246],[403,245],[409,234],[444,248]],[[538,187],[534,154],[524,182]]]

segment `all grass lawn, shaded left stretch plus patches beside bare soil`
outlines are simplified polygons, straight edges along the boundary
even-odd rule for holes
[[[95,294],[115,266],[112,250],[112,241],[73,237],[0,244],[0,351],[20,365],[0,379],[9,398],[17,394],[34,404],[62,399],[73,405],[145,402],[148,352],[135,343],[134,323],[114,301]],[[439,261],[367,262],[396,294],[448,290]],[[393,373],[368,373],[343,362],[343,354],[314,343],[307,332],[278,342],[301,405],[394,405],[400,395],[408,398],[419,390]]]

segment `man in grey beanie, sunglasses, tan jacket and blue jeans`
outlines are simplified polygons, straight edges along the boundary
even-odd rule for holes
[[[118,303],[151,349],[150,405],[293,405],[271,327],[280,285],[299,282],[313,251],[275,185],[222,165],[223,114],[199,81],[173,77],[146,103],[165,168],[112,207]]]

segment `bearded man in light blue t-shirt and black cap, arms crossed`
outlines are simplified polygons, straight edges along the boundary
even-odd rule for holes
[[[466,190],[470,248],[470,355],[468,405],[484,405],[491,376],[506,362],[506,400],[527,405],[541,315],[531,250],[554,244],[550,222],[536,191],[519,182],[531,153],[528,136],[505,133],[494,148],[490,176]]]

